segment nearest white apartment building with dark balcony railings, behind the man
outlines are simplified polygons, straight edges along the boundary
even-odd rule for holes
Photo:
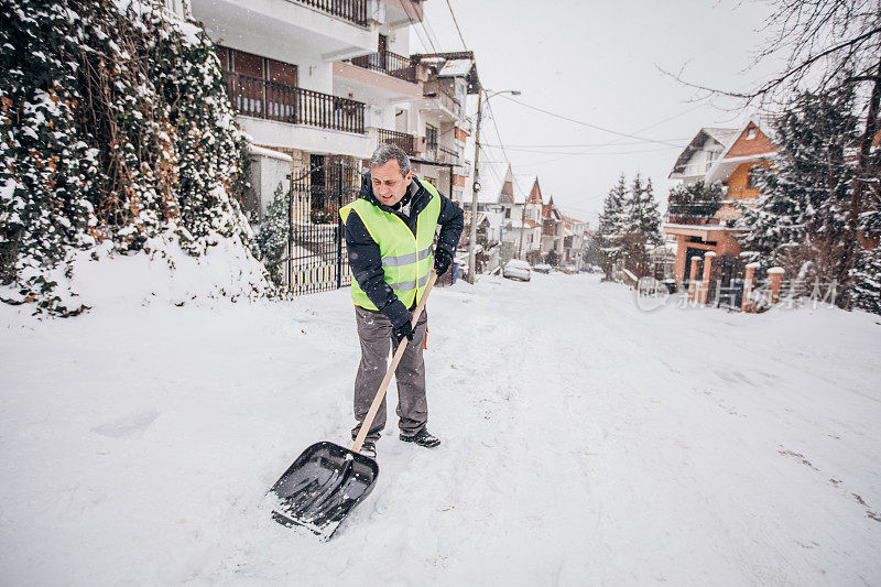
[[[291,173],[315,200],[330,183],[356,184],[380,141],[414,151],[416,138],[398,121],[423,99],[417,67],[405,56],[422,1],[191,0],[252,140],[253,220]],[[335,176],[331,163],[351,173]],[[330,216],[315,202],[308,207],[312,216]]]

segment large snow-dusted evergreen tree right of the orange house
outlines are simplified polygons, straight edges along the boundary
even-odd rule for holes
[[[852,89],[798,95],[774,123],[773,166],[755,171],[761,197],[747,204],[743,248],[792,279],[836,281],[847,291],[844,260],[852,243],[848,213],[858,117]],[[852,154],[852,153],[851,153]],[[847,304],[847,296],[839,303]]]

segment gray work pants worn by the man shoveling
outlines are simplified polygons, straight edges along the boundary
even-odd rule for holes
[[[361,340],[361,365],[355,377],[355,418],[358,425],[351,431],[352,439],[358,435],[361,423],[370,411],[370,404],[377,395],[377,390],[385,377],[389,368],[389,347],[392,354],[398,350],[398,345],[392,335],[392,323],[379,312],[371,312],[361,306],[355,306],[355,319],[358,324],[358,338]],[[423,311],[416,323],[413,341],[409,343],[394,379],[398,382],[398,417],[401,433],[413,436],[425,427],[428,421],[428,403],[425,399],[425,362],[422,358],[422,346],[425,340],[425,330],[428,326],[428,316]],[[406,343],[406,339],[404,339]],[[368,441],[377,442],[380,432],[385,427],[385,398],[373,418]]]

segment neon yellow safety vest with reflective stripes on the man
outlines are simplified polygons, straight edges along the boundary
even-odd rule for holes
[[[432,244],[437,219],[440,217],[440,195],[437,189],[428,182],[420,180],[420,183],[428,191],[432,199],[418,214],[415,236],[398,215],[381,210],[363,198],[358,198],[339,209],[344,224],[352,210],[358,213],[368,232],[379,244],[385,283],[406,307],[413,306],[428,283],[428,274],[432,271]],[[378,309],[354,275],[351,300],[357,306]]]

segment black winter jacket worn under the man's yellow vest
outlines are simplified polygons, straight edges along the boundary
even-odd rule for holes
[[[383,211],[396,215],[415,236],[416,218],[428,205],[431,194],[422,186],[415,175],[410,189],[412,200],[409,217],[377,199],[373,195],[373,184],[369,172],[365,174],[358,197],[368,200]],[[437,224],[440,225],[440,235],[437,237],[437,249],[444,249],[450,256],[453,254],[461,236],[463,218],[461,208],[455,202],[440,194],[440,216],[437,219]],[[412,308],[405,307],[403,302],[394,294],[394,291],[385,283],[379,244],[370,236],[358,213],[354,210],[346,220],[346,248],[349,252],[349,267],[355,280],[365,291],[367,297],[391,320],[392,326],[398,328],[411,319],[410,311]]]

